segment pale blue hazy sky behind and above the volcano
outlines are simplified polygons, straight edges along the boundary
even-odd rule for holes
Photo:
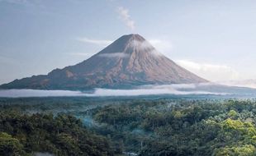
[[[256,79],[255,0],[0,0],[0,83],[76,64],[131,33],[208,80]]]

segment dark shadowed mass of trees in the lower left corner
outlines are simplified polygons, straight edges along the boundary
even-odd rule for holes
[[[0,112],[0,155],[113,155],[109,142],[86,130],[75,117]]]

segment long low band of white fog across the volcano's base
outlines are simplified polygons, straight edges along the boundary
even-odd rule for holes
[[[0,97],[61,97],[61,96],[139,96],[157,94],[256,94],[256,89],[228,87],[212,83],[178,85],[143,85],[135,89],[94,89],[92,92],[71,90],[2,89]]]

